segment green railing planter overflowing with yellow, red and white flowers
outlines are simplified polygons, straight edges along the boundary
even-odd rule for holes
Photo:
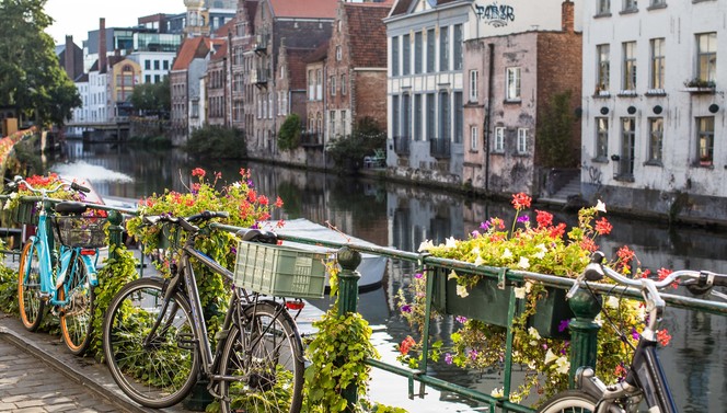
[[[491,218],[465,240],[450,238],[439,245],[425,241],[419,251],[475,264],[485,272],[495,267],[495,273],[520,271],[575,278],[588,264],[590,254],[598,250],[598,237],[609,234],[613,228],[605,217],[599,216],[605,213],[605,206],[600,202],[597,206],[580,209],[578,225],[570,229],[565,223],[553,223],[550,213],[526,214],[531,205],[531,198],[526,194],[513,195],[512,205],[516,215],[509,229],[503,219]],[[633,267],[634,261],[633,251],[624,246],[609,265],[632,276],[650,275],[649,271]],[[449,274],[445,272],[447,279],[441,269],[435,271],[432,307],[455,314],[454,331],[448,340],[430,343],[430,359],[469,369],[501,369],[507,308],[512,295],[518,311],[510,325],[510,354],[512,363],[522,366],[526,379],[505,397],[520,402],[531,390],[547,397],[567,388],[570,368],[567,329],[573,316],[569,309],[561,307],[566,303],[563,291],[531,280],[513,282],[503,290],[497,287],[497,278],[460,269],[448,271]],[[667,273],[662,268],[659,275]],[[400,291],[399,301],[403,317],[422,331],[428,299],[423,274],[414,277],[413,288],[414,291]],[[602,311],[596,319],[602,323],[597,370],[608,382],[613,382],[625,377],[622,360],[628,359],[630,345],[636,343],[637,335],[633,332],[643,321],[644,309],[633,299],[609,297],[602,301]],[[668,333],[661,332],[660,337],[666,345]],[[422,345],[422,337],[418,341],[407,337],[400,346],[400,360],[417,368],[424,357]],[[501,397],[498,389],[493,390],[493,394]]]

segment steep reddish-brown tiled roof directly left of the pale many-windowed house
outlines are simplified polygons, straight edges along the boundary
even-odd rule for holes
[[[348,15],[351,64],[356,67],[386,67],[386,25],[391,4],[342,3]]]

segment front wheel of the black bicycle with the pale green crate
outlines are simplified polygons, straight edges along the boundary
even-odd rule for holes
[[[131,400],[162,409],[192,390],[199,370],[192,323],[186,297],[175,292],[164,302],[162,279],[136,279],[116,294],[104,319],[104,356]]]

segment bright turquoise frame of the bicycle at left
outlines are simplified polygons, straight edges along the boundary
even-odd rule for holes
[[[58,267],[58,273],[54,274],[54,264],[51,259],[51,243],[50,238],[53,234],[48,232],[48,214],[46,213],[45,206],[41,208],[38,214],[38,225],[37,233],[30,238],[28,242],[32,243],[31,249],[37,250],[38,252],[38,271],[41,273],[41,294],[48,299],[48,302],[53,306],[66,306],[70,301],[71,297],[68,294],[69,280],[67,279],[68,273],[73,274],[76,269],[76,256],[80,256],[83,265],[86,269],[86,275],[89,277],[89,283],[92,287],[99,285],[99,279],[96,277],[96,267],[95,260],[91,260],[90,256],[81,254],[81,249],[69,248],[60,245],[60,256],[58,257],[60,266]],[[33,256],[33,251],[30,251],[30,256]],[[94,253],[94,256],[97,256],[97,251]],[[26,263],[30,265],[30,262]],[[23,268],[24,276],[27,277],[28,268]],[[54,277],[55,275],[55,277]],[[58,299],[58,289],[64,288],[66,299]]]

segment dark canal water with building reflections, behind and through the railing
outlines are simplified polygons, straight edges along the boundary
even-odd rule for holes
[[[275,218],[307,218],[331,222],[341,231],[403,251],[416,251],[424,240],[442,242],[464,238],[488,217],[508,221],[507,203],[472,199],[417,186],[307,172],[265,163],[204,162],[174,149],[142,149],[107,144],[68,141],[64,156],[51,170],[88,177],[102,196],[138,199],[164,188],[186,191],[189,171],[205,168],[230,181],[240,168],[249,168],[259,193],[280,196],[282,211]],[[608,206],[607,206],[608,207]],[[575,223],[576,217],[552,210],[556,220]],[[699,228],[669,229],[636,219],[609,217],[614,230],[600,242],[611,256],[621,245],[636,251],[643,267],[712,269],[727,273],[727,234]],[[394,345],[411,332],[399,316],[394,296],[411,280],[411,266],[391,263],[381,288],[360,296],[359,309],[374,330],[382,359],[395,364]],[[328,302],[314,302],[325,309]],[[727,320],[725,317],[668,309],[666,324],[672,343],[660,356],[677,405],[682,412],[724,412],[727,405]],[[436,326],[451,328],[449,320]],[[497,375],[436,366],[440,378],[486,393],[500,388]],[[416,386],[418,389],[418,385]],[[378,371],[371,382],[374,401],[407,409],[412,413],[485,411],[450,392],[427,389],[424,400],[407,399],[406,380]]]

